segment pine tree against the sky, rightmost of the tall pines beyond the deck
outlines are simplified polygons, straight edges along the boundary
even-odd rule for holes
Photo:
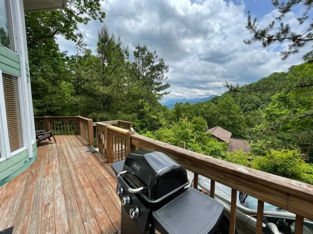
[[[147,46],[137,45],[133,53],[134,61],[129,63],[126,79],[127,110],[136,113],[138,130],[154,131],[164,124],[162,116],[167,114],[167,108],[162,107],[159,100],[169,94],[166,89],[170,84],[164,83],[168,65]]]

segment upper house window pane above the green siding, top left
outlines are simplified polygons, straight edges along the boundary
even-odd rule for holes
[[[14,51],[9,0],[0,0],[0,44]]]

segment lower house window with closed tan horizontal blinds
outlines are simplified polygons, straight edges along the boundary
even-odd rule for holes
[[[11,152],[23,147],[22,121],[18,98],[18,78],[2,74],[5,112]]]

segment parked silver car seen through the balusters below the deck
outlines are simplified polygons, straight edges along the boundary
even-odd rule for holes
[[[202,193],[210,193],[211,180],[199,175],[198,190]],[[193,180],[191,183],[193,187]],[[265,192],[265,191],[264,191]],[[231,188],[215,183],[215,199],[222,202],[225,211],[222,221],[218,225],[216,234],[229,233]],[[258,199],[247,194],[237,192],[236,210],[236,234],[254,234],[256,231],[256,215]],[[274,225],[275,224],[275,225]],[[277,227],[277,228],[276,228]],[[263,233],[293,234],[295,231],[295,214],[264,202]],[[304,220],[304,234],[313,234],[313,222]]]

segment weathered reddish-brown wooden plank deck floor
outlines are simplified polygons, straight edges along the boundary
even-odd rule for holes
[[[43,143],[38,159],[0,187],[0,230],[13,233],[116,233],[121,202],[110,165],[80,136]]]

